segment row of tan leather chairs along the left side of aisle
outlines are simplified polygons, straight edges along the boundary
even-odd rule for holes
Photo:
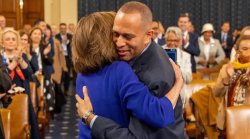
[[[45,137],[45,127],[48,125],[48,115],[44,99],[44,77],[37,75],[40,86],[36,88],[34,82],[30,82],[30,97],[34,111],[37,115],[40,135]],[[0,109],[5,139],[29,139],[30,124],[28,114],[28,95],[21,93],[11,96],[12,102],[8,108]]]

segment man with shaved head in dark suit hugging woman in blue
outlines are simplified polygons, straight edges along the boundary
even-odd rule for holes
[[[113,41],[121,60],[127,61],[151,92],[163,97],[175,82],[174,71],[165,51],[152,41],[152,13],[140,2],[125,3],[117,12],[113,26]],[[175,123],[157,129],[130,116],[129,128],[91,114],[87,120],[92,138],[96,139],[185,139],[182,102],[178,98],[175,107]],[[152,115],[157,116],[157,115]]]

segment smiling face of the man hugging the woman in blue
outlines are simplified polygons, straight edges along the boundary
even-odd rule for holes
[[[147,30],[138,13],[118,12],[113,26],[113,41],[121,60],[130,61],[146,48],[153,31]]]

